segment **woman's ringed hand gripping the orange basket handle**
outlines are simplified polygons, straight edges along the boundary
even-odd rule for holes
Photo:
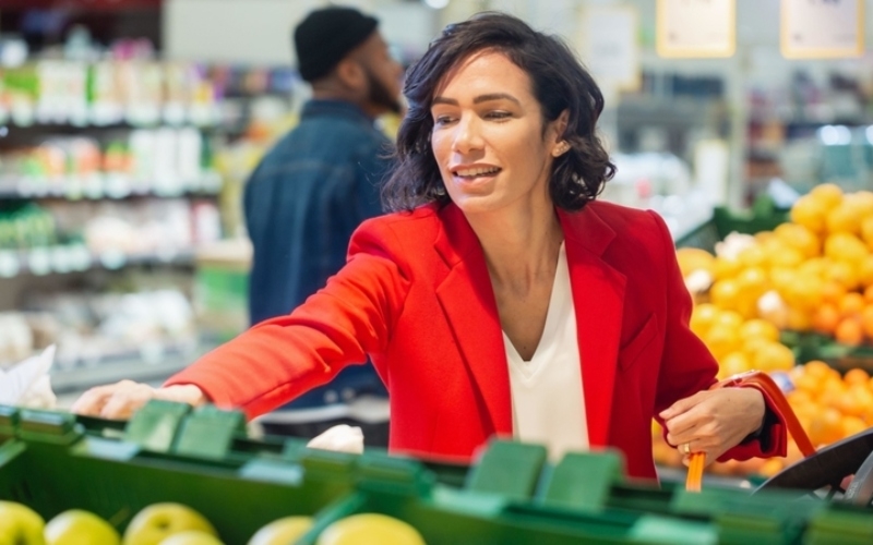
[[[756,388],[719,388],[680,399],[660,417],[686,465],[691,452],[705,452],[708,464],[757,431],[766,409]]]

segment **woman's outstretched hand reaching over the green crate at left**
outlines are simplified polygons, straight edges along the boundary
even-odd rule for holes
[[[133,380],[121,380],[87,390],[73,403],[70,412],[101,419],[127,420],[151,399],[180,401],[194,407],[206,402],[203,390],[194,385],[153,388]]]

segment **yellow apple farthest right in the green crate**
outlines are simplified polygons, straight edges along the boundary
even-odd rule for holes
[[[424,538],[402,520],[367,512],[325,528],[315,545],[424,545]]]

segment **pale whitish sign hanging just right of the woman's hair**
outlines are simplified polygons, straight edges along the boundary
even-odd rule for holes
[[[578,45],[598,84],[627,90],[639,87],[637,26],[635,8],[593,7],[583,11]]]

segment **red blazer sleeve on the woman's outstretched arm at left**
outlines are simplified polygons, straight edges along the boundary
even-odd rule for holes
[[[196,385],[215,404],[251,419],[380,352],[408,292],[392,238],[384,222],[364,222],[351,238],[348,262],[322,290],[289,315],[205,354],[165,386]]]

